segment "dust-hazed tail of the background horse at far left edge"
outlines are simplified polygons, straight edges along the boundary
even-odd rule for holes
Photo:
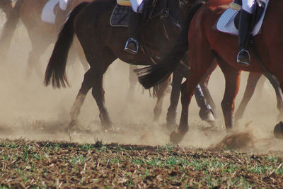
[[[18,24],[18,21],[20,20],[20,11],[23,4],[23,1],[25,0],[18,0],[13,7],[11,13],[9,14],[6,23],[3,26],[2,34],[0,38],[0,44],[1,44],[1,53],[6,55],[6,50],[8,50],[8,47],[11,44],[11,40],[13,38],[13,34],[15,33],[16,26]]]

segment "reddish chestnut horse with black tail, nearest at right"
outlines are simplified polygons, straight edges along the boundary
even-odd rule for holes
[[[230,0],[211,0],[207,4],[194,6],[187,17],[187,28],[183,29],[173,51],[164,59],[163,64],[141,70],[140,74],[144,75],[140,76],[140,82],[149,88],[171,74],[178,66],[180,57],[185,54],[187,45],[190,47],[190,71],[182,87],[180,125],[178,131],[172,132],[170,136],[173,143],[180,142],[187,133],[188,106],[193,91],[209,67],[213,66],[214,61],[219,64],[226,80],[221,107],[227,132],[233,129],[233,110],[241,70],[262,74],[267,70],[269,72],[267,74],[273,74],[277,77],[281,88],[283,86],[283,54],[280,52],[283,45],[283,25],[279,24],[283,21],[283,1],[270,1],[262,24],[262,32],[254,37],[255,47],[260,53],[262,64],[250,50],[252,61],[248,67],[238,65],[236,62],[237,36],[220,33],[213,27],[230,2]]]

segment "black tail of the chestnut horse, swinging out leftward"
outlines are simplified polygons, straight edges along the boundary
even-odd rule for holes
[[[183,28],[175,42],[175,45],[173,46],[173,49],[160,64],[135,70],[139,76],[139,83],[144,86],[144,88],[151,88],[152,86],[161,83],[170,76],[176,67],[178,67],[178,64],[181,59],[183,59],[185,52],[189,49],[188,31],[190,28],[190,22],[192,21],[192,17],[202,5],[203,3],[195,4],[195,6],[193,6],[187,13],[187,18],[185,19],[185,23],[183,23]]]

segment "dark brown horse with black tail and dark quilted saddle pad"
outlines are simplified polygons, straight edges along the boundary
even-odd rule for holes
[[[195,1],[188,1],[186,8],[194,3]],[[162,57],[168,52],[173,45],[173,39],[180,31],[175,24],[177,16],[174,15],[178,13],[175,9],[178,9],[179,4],[178,1],[171,0],[168,1],[170,6],[167,7],[164,4],[166,5],[167,1],[157,1],[154,18],[149,19],[146,27],[142,29],[140,43],[144,51],[139,51],[136,56],[128,55],[123,50],[128,38],[127,28],[114,28],[109,24],[112,10],[116,5],[115,0],[97,0],[74,8],[59,34],[45,74],[46,85],[50,84],[50,81],[54,87],[68,84],[65,65],[69,46],[76,33],[91,69],[86,72],[81,89],[71,108],[71,125],[76,122],[86,93],[92,88],[93,98],[96,99],[100,110],[102,125],[106,129],[112,127],[112,121],[105,107],[103,74],[117,58],[129,64],[149,65],[155,64],[152,57]],[[165,12],[163,8],[169,8],[171,16],[163,14]],[[155,110],[155,113],[160,114],[161,109]]]

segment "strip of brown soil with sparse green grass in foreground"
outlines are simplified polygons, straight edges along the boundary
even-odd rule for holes
[[[122,144],[0,141],[8,188],[283,188],[282,154]]]

